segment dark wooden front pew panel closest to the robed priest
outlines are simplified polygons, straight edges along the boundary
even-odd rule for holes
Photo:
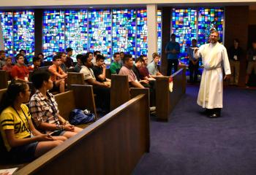
[[[157,77],[156,108],[157,120],[168,121],[169,114],[186,93],[186,69],[179,69],[173,77],[173,92],[169,90],[169,77]]]

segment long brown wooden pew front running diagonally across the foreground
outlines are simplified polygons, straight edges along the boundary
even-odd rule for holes
[[[149,151],[146,106],[145,94],[132,98],[15,174],[132,174]]]

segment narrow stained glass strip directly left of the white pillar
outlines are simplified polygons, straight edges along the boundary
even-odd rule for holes
[[[146,9],[137,10],[137,56],[148,53],[148,28]]]

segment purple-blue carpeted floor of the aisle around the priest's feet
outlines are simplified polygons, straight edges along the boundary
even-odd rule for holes
[[[200,114],[197,92],[187,87],[169,123],[151,120],[151,152],[133,174],[256,174],[256,90],[226,88],[217,119]]]

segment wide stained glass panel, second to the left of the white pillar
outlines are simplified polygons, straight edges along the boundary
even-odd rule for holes
[[[135,9],[113,9],[113,52],[127,52],[135,57],[136,11]]]

